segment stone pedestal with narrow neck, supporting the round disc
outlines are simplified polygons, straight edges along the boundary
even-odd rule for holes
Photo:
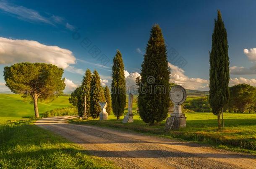
[[[181,111],[181,106],[174,105],[173,109],[174,112],[166,119],[165,130],[180,129],[186,126],[186,117]]]

